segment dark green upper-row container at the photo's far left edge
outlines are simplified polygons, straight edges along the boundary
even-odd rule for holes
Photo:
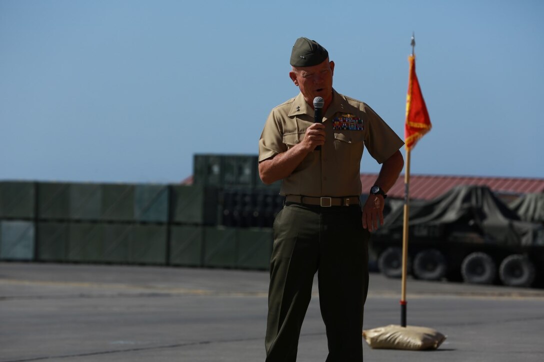
[[[35,184],[0,182],[0,219],[34,219]]]

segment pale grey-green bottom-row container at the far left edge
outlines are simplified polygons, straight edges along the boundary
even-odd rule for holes
[[[34,223],[0,221],[0,260],[34,260]]]

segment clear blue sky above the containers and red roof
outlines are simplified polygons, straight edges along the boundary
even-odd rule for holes
[[[177,183],[194,153],[257,154],[299,36],[404,138],[412,31],[433,128],[411,172],[542,178],[543,19],[539,0],[0,0],[0,180]]]

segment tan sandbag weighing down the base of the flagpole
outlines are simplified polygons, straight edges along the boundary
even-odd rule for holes
[[[387,327],[363,330],[363,338],[372,348],[410,349],[422,351],[436,349],[446,336],[432,328],[390,324]]]

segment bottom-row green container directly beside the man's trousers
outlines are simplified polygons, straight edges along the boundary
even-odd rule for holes
[[[269,269],[274,242],[272,229],[238,229],[237,234],[236,266],[241,269]]]

